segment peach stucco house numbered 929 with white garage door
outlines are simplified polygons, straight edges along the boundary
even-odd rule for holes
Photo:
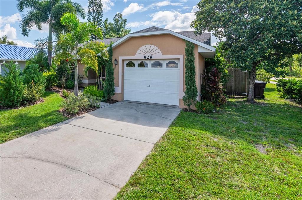
[[[114,42],[112,59],[113,63],[117,60],[117,65],[113,65],[113,99],[185,108],[182,101],[185,91],[185,40],[195,44],[195,79],[199,100],[204,58],[215,56],[211,34],[195,36],[193,31],[174,32],[159,27],[149,27],[122,38],[98,40],[105,44]],[[83,74],[82,64],[79,64],[79,74]],[[88,78],[84,78],[83,85],[95,83],[95,78],[95,74],[90,72]]]

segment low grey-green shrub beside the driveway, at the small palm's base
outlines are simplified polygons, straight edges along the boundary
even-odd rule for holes
[[[68,98],[62,102],[62,107],[69,114],[77,114],[81,110],[99,107],[99,105],[95,97],[90,95],[76,96],[70,93]]]

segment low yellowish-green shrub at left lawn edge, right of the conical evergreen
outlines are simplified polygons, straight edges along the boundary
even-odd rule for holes
[[[34,81],[29,83],[23,92],[24,102],[35,102],[38,101],[45,93],[45,87],[41,84],[35,84]]]

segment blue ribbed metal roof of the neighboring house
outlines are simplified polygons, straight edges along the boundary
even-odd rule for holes
[[[28,60],[36,53],[36,48],[0,44],[0,59]]]

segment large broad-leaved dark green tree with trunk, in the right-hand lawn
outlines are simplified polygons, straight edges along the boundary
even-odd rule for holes
[[[202,0],[191,23],[196,34],[212,31],[225,38],[228,57],[250,71],[248,102],[254,102],[256,70],[260,64],[281,76],[284,58],[302,51],[302,4],[291,1]]]

